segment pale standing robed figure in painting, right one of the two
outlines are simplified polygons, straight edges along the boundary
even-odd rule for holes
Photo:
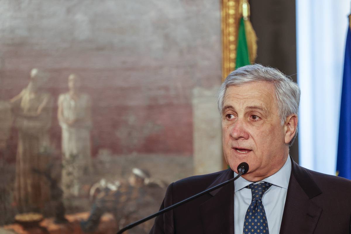
[[[58,119],[62,128],[62,189],[64,197],[80,196],[82,181],[92,171],[90,96],[80,92],[80,78],[68,76],[68,93],[59,95]]]

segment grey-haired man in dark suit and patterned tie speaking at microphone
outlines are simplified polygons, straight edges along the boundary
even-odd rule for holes
[[[161,209],[233,178],[241,162],[249,171],[159,215],[150,233],[351,233],[351,181],[300,167],[289,156],[299,100],[297,84],[277,69],[255,64],[230,73],[218,93],[230,169],[171,183]]]

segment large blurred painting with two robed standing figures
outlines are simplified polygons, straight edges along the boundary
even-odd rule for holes
[[[156,212],[194,174],[194,90],[221,82],[220,11],[0,0],[1,230],[115,233]]]

